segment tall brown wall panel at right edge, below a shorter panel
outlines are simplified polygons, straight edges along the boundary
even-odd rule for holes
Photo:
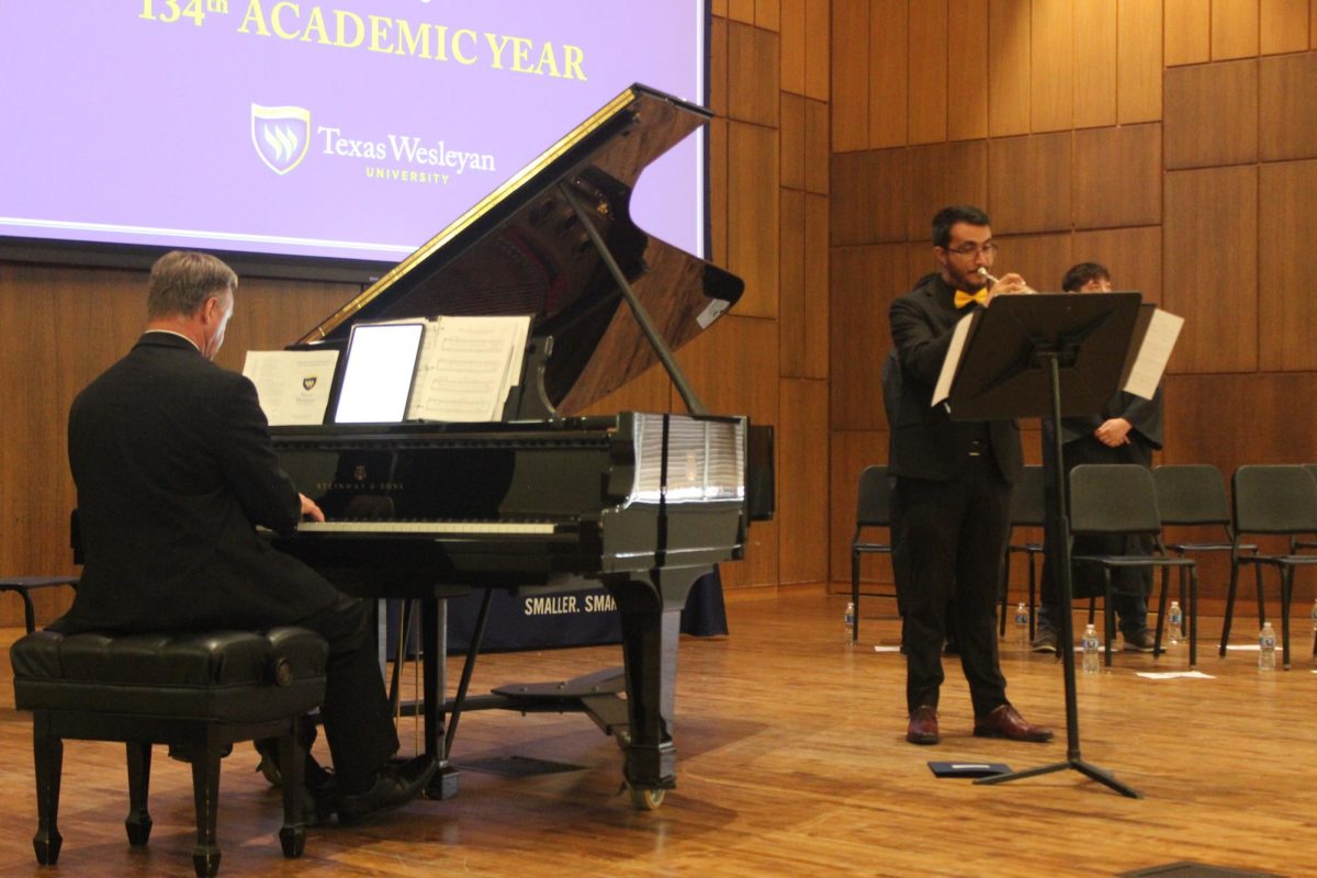
[[[1260,174],[1259,215],[1267,226],[1258,253],[1258,365],[1264,371],[1317,371],[1312,283],[1317,161],[1263,165]]]

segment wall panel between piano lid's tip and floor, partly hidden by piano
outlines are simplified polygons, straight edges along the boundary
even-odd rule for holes
[[[778,423],[777,321],[732,313],[678,350],[677,361],[710,412],[748,415],[755,424]],[[778,495],[778,509],[786,500]],[[777,540],[777,521],[756,521],[745,561],[726,565],[723,582],[730,587],[776,583]]]

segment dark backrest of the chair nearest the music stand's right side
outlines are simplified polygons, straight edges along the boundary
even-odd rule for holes
[[[1071,470],[1073,533],[1160,533],[1152,473],[1139,463],[1081,463]]]

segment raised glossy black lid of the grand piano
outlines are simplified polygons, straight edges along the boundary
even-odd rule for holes
[[[740,299],[740,278],[636,228],[631,192],[657,157],[711,113],[632,86],[335,312],[296,346],[346,341],[353,323],[535,315],[553,336],[544,386],[576,415],[657,357],[572,211],[572,187],[673,350]]]

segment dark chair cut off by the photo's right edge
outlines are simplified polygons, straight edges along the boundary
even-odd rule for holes
[[[1293,596],[1295,569],[1317,565],[1317,555],[1296,554],[1293,550],[1288,554],[1242,554],[1239,537],[1287,536],[1293,545],[1300,537],[1317,536],[1317,480],[1306,467],[1297,465],[1241,466],[1235,470],[1231,484],[1235,549],[1230,553],[1230,591],[1226,595],[1226,620],[1221,629],[1221,656],[1226,654],[1226,645],[1230,642],[1239,565],[1254,565],[1259,625],[1267,621],[1262,599],[1262,569],[1275,567],[1280,573],[1280,640],[1284,667],[1289,670],[1289,599]]]

